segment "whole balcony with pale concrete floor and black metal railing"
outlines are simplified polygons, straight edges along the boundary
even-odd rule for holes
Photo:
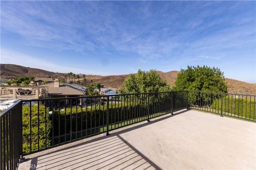
[[[1,113],[1,154],[7,155],[7,150],[12,148],[7,157],[1,156],[1,168],[12,169],[19,162],[18,169],[255,169],[255,96],[243,96],[243,103],[235,97],[232,104],[228,104],[228,95],[214,93],[213,101],[207,98],[209,95],[202,94],[204,92],[183,91],[87,97],[91,98],[88,101],[94,101],[94,104],[99,101],[105,107],[93,109],[93,103],[78,106],[84,108],[83,116],[78,116],[79,111],[67,114],[74,117],[70,122],[73,125],[67,124],[72,119],[66,114],[65,121],[61,121],[60,113],[67,113],[67,108],[61,107],[61,101],[72,108],[73,102],[67,100],[78,102],[79,98],[37,100],[38,110],[34,111],[30,105],[28,115],[13,116],[14,112],[21,113],[20,103],[10,108],[12,112]],[[194,95],[197,95],[196,99],[192,97]],[[47,103],[48,100],[57,100],[58,107],[53,106],[54,102]],[[232,112],[228,113],[226,106],[233,106],[234,101],[236,105],[229,107]],[[237,107],[237,104],[243,104],[243,107]],[[187,107],[191,109],[187,110]],[[237,112],[237,108],[242,111]],[[33,112],[36,113],[34,121],[39,122],[36,126],[33,125]],[[50,112],[50,122],[42,121],[41,116],[48,117]],[[28,126],[29,135],[24,136],[26,129],[21,130],[18,122],[20,117],[24,121],[26,116],[28,120],[31,117],[30,127],[38,130],[37,133]],[[48,123],[51,133],[40,128],[41,124]],[[64,124],[65,130],[58,129],[60,123]],[[7,140],[6,135],[9,136]],[[14,138],[16,140],[12,140]]]

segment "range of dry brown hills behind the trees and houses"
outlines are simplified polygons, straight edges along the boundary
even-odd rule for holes
[[[14,78],[19,76],[31,76],[31,77],[52,77],[52,78],[64,78],[64,73],[54,73],[50,71],[45,71],[41,69],[35,69],[20,65],[14,64],[1,64],[0,66],[0,74],[1,78]],[[179,74],[179,71],[170,71],[170,72],[162,72],[157,71],[160,77],[166,80],[171,86],[174,85],[174,81]],[[82,75],[81,75],[82,77]],[[101,83],[106,87],[111,88],[122,88],[123,82],[126,78],[129,77],[129,74],[124,75],[86,75],[86,79],[88,82],[93,81],[93,83]],[[228,92],[232,94],[245,94],[245,95],[256,95],[256,84],[246,83],[243,81],[238,81],[234,79],[225,78],[225,81],[228,84]]]

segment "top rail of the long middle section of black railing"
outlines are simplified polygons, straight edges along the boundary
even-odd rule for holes
[[[22,100],[23,102],[29,101],[45,101],[45,100],[65,100],[65,99],[80,99],[80,98],[95,98],[95,97],[114,97],[114,96],[128,96],[128,95],[145,95],[145,94],[161,94],[166,92],[186,92],[187,90],[181,91],[161,91],[161,92],[144,92],[137,94],[116,94],[116,95],[99,95],[99,96],[82,96],[82,97],[61,97],[61,98],[45,98],[45,99],[31,99],[31,100]]]

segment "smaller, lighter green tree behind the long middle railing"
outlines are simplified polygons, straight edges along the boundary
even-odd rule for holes
[[[170,86],[162,80],[156,70],[141,71],[137,74],[130,74],[130,77],[124,81],[124,88],[120,89],[121,94],[168,91]]]

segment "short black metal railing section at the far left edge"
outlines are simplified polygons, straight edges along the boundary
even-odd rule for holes
[[[15,169],[22,155],[21,101],[0,113],[0,169]]]

